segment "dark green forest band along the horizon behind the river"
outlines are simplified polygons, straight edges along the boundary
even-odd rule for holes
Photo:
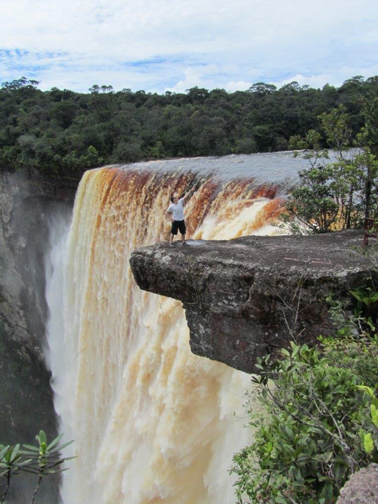
[[[322,89],[259,82],[230,93],[114,92],[108,85],[78,93],[41,91],[38,84],[22,77],[0,88],[0,169],[79,178],[101,164],[283,151],[291,137],[319,130],[318,116],[340,105],[350,117],[352,145],[363,103],[378,93],[378,76]]]

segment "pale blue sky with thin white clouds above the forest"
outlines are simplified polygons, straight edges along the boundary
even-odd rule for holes
[[[76,91],[322,87],[377,75],[377,48],[376,0],[13,0],[2,6],[0,81]]]

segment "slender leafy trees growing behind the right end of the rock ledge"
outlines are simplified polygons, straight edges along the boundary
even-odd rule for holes
[[[304,139],[292,137],[291,147],[308,149],[309,166],[299,172],[300,184],[291,192],[281,214],[294,234],[325,233],[363,227],[365,219],[378,216],[378,96],[362,109],[365,125],[350,150],[350,116],[343,106],[319,116],[321,132],[310,130]],[[329,162],[322,135],[336,153]],[[298,152],[294,153],[297,156]]]

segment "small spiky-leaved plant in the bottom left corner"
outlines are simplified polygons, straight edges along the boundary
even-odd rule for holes
[[[69,441],[59,445],[63,434],[59,434],[51,443],[47,442],[46,434],[43,430],[35,436],[38,444],[23,445],[0,445],[0,478],[6,479],[6,487],[0,498],[0,504],[5,504],[11,480],[14,476],[22,473],[34,474],[37,477],[36,486],[31,496],[30,504],[33,504],[38,493],[42,478],[51,474],[56,474],[67,469],[61,469],[61,465],[75,457],[61,457],[61,450],[73,443]]]

